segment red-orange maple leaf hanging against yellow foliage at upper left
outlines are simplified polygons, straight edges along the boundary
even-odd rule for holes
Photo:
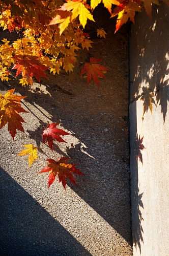
[[[47,78],[46,74],[43,72],[48,68],[42,64],[37,59],[37,56],[30,55],[16,55],[13,57],[16,59],[14,67],[12,69],[17,69],[16,76],[22,73],[23,78],[28,77],[29,82],[32,84],[33,75],[36,77],[38,82],[40,82],[40,76]],[[48,79],[48,78],[47,78]]]

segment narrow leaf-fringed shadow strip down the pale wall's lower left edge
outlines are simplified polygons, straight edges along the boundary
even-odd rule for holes
[[[132,243],[138,246],[141,253],[141,241],[143,240],[142,212],[140,207],[144,209],[142,202],[143,193],[140,194],[138,186],[138,159],[143,164],[143,157],[140,150],[144,149],[142,144],[143,138],[137,135],[137,116],[136,101],[130,105],[130,178],[131,178],[131,222],[132,222]]]

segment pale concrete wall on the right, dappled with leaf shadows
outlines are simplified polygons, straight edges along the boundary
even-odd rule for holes
[[[136,14],[130,38],[134,256],[169,255],[169,8],[152,9]]]

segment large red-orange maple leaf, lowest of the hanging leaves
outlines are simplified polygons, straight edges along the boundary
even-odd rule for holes
[[[76,182],[74,180],[74,177],[72,173],[79,174],[79,175],[85,175],[79,171],[79,169],[75,168],[76,164],[70,164],[66,163],[67,160],[69,160],[69,157],[60,157],[57,161],[53,159],[47,159],[49,162],[47,166],[45,166],[40,173],[49,173],[49,179],[48,179],[48,189],[50,185],[55,180],[55,177],[58,175],[59,182],[62,182],[62,185],[64,186],[66,190],[66,177],[73,182],[76,186]]]

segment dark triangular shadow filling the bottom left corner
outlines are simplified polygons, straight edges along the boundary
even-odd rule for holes
[[[91,255],[1,167],[0,177],[0,255]]]

